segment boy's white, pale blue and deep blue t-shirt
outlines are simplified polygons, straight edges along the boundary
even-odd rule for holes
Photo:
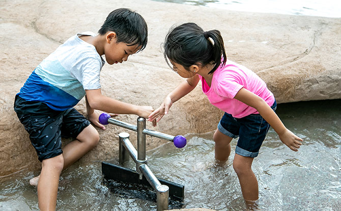
[[[82,35],[96,36],[84,32],[69,38],[38,65],[17,95],[61,111],[75,106],[86,89],[100,88],[104,59],[95,46],[79,38]]]

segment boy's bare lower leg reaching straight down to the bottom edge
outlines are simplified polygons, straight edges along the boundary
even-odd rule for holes
[[[42,161],[38,183],[38,204],[41,211],[55,210],[59,176],[64,165],[63,155]]]

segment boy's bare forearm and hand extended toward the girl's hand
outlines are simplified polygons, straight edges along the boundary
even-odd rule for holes
[[[102,95],[101,89],[86,90],[86,95],[90,112],[93,109],[96,109],[108,113],[136,114],[138,116],[147,118],[154,110],[150,106],[137,106],[106,97]]]

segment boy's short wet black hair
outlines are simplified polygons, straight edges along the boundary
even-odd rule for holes
[[[146,48],[148,41],[148,28],[145,19],[127,8],[116,9],[109,13],[98,33],[105,35],[115,32],[117,42],[141,46],[141,51]]]

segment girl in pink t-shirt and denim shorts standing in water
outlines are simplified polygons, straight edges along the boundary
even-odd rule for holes
[[[166,36],[164,57],[168,66],[173,66],[187,80],[167,95],[148,120],[158,122],[174,102],[191,92],[201,80],[210,103],[225,111],[213,135],[215,159],[218,163],[228,160],[230,142],[239,137],[233,168],[247,206],[254,205],[258,199],[258,182],[251,164],[269,127],[294,151],[302,139],[288,130],[274,112],[276,101],[266,83],[251,70],[226,59],[219,31],[204,32],[195,23],[175,27]]]

